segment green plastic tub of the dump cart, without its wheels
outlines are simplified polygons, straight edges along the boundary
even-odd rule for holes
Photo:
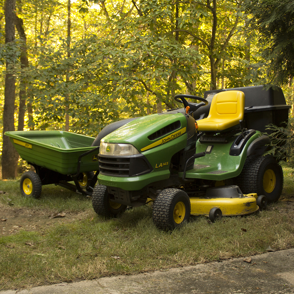
[[[65,131],[11,131],[5,135],[23,160],[64,175],[77,172],[78,157],[94,148],[95,139]],[[80,172],[99,169],[97,154],[96,150],[82,157]]]

